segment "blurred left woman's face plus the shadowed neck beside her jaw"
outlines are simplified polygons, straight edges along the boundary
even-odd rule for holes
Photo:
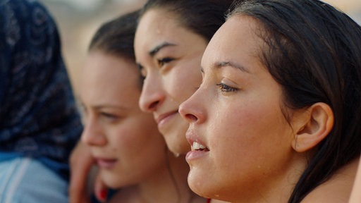
[[[184,156],[166,149],[152,113],[140,110],[140,87],[133,61],[90,51],[80,93],[85,109],[82,142],[97,162],[97,178],[121,188],[110,202],[204,202],[188,187]]]

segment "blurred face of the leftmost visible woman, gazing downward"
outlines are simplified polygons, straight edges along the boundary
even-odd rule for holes
[[[152,113],[139,109],[135,63],[90,51],[82,70],[80,97],[88,144],[102,180],[112,188],[139,183],[164,167],[166,144]]]

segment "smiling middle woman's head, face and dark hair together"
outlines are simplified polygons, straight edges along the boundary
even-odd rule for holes
[[[135,35],[135,58],[145,78],[140,108],[153,113],[167,146],[180,159],[190,145],[178,106],[200,85],[203,51],[232,2],[150,0],[140,11]]]

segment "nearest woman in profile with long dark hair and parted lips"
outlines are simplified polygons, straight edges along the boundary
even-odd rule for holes
[[[361,151],[360,36],[322,1],[238,4],[180,108],[192,190],[230,202],[347,202]]]

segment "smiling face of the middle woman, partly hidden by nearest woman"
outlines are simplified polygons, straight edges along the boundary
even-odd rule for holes
[[[188,123],[178,113],[202,80],[200,61],[207,45],[200,35],[181,26],[175,16],[159,9],[147,11],[135,34],[135,56],[145,76],[140,108],[152,112],[166,144],[185,154]]]

